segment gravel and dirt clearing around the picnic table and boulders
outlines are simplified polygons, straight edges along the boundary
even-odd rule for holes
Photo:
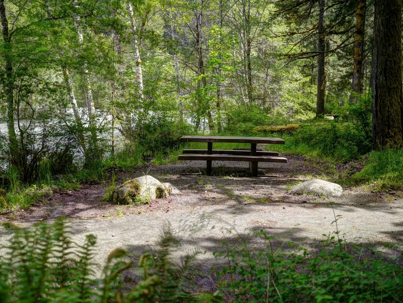
[[[288,164],[259,163],[259,176],[250,177],[248,163],[213,162],[213,175],[205,175],[205,162],[181,162],[143,166],[136,171],[116,173],[116,184],[149,174],[170,182],[180,194],[156,199],[143,206],[115,206],[102,202],[109,185],[87,184],[71,192],[55,193],[28,211],[0,216],[21,226],[68,219],[72,236],[81,242],[85,235],[97,236],[97,259],[103,263],[108,252],[127,247],[137,258],[154,247],[168,222],[183,240],[183,248],[197,247],[206,254],[200,260],[213,262],[212,251],[224,239],[265,229],[276,239],[312,243],[338,230],[347,240],[368,243],[398,243],[403,239],[403,192],[374,192],[360,187],[344,188],[341,197],[292,194],[299,182],[324,178],[337,183],[337,176],[352,174],[358,164],[330,168],[325,161],[287,156]],[[332,206],[330,205],[332,202]],[[333,214],[334,210],[334,214]],[[8,231],[0,229],[1,238]],[[1,242],[1,240],[0,240]],[[208,267],[210,268],[210,266]],[[207,282],[206,282],[207,283]]]

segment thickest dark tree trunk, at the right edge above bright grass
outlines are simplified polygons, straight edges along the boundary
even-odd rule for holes
[[[401,0],[375,0],[372,122],[373,145],[402,141]]]

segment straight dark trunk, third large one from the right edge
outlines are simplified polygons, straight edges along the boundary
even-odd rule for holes
[[[316,117],[325,113],[326,97],[326,72],[325,72],[325,18],[326,0],[319,0],[319,24],[318,24],[318,92],[316,97]]]

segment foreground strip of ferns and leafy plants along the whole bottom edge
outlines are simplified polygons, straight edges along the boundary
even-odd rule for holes
[[[334,216],[337,223],[337,216]],[[218,291],[199,292],[192,263],[199,250],[174,262],[183,250],[170,226],[157,248],[133,267],[123,249],[107,257],[95,274],[96,238],[72,240],[63,219],[31,229],[3,224],[12,231],[0,247],[0,302],[398,302],[403,299],[403,251],[387,245],[385,254],[371,244],[347,242],[334,235],[316,244],[278,245],[261,230],[238,234],[214,253],[212,268]],[[337,230],[337,227],[336,227]],[[274,243],[274,244],[273,244]],[[275,248],[277,247],[277,248]],[[391,257],[392,256],[392,257]],[[99,268],[99,267],[98,267]],[[122,279],[122,273],[130,275]],[[99,276],[99,275],[98,275]],[[131,277],[130,279],[128,277]],[[130,281],[129,281],[129,280]],[[130,285],[130,287],[129,287]],[[225,299],[224,299],[225,297]]]

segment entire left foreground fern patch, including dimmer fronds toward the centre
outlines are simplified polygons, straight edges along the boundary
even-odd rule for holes
[[[8,244],[0,247],[0,302],[220,302],[218,294],[191,292],[187,275],[197,251],[171,261],[181,243],[168,227],[159,248],[141,256],[136,272],[141,280],[121,293],[121,274],[131,267],[127,252],[114,249],[107,257],[101,278],[95,277],[96,238],[87,235],[83,244],[72,241],[63,219],[51,225],[38,223],[32,229],[13,224]]]

